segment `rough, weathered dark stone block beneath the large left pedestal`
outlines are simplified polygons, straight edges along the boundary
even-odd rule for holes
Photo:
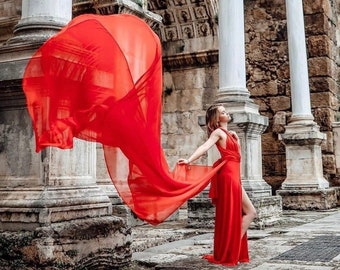
[[[116,217],[0,233],[1,269],[121,269],[131,261],[130,230]]]

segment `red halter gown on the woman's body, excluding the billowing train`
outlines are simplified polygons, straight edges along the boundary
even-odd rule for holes
[[[234,266],[249,262],[247,235],[241,239],[241,155],[237,139],[222,130],[227,134],[226,148],[216,144],[221,159],[215,164],[224,165],[212,180],[209,194],[216,206],[214,252],[204,258],[212,263]]]

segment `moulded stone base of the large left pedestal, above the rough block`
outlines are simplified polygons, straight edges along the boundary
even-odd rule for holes
[[[98,186],[0,188],[0,230],[33,231],[53,223],[112,214]]]

